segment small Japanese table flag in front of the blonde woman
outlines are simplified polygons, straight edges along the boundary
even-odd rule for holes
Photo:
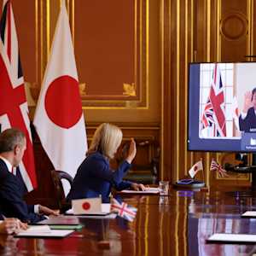
[[[90,214],[102,212],[102,198],[76,199],[72,201],[74,214]]]

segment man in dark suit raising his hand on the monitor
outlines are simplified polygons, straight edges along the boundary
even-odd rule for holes
[[[244,107],[239,117],[241,131],[256,132],[256,87],[245,94]]]

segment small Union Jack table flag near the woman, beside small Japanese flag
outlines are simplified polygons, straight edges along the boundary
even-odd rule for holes
[[[125,202],[119,203],[116,199],[111,200],[111,211],[117,212],[119,217],[133,221],[136,217],[137,208],[128,206]]]

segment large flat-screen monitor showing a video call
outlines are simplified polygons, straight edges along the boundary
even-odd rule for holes
[[[189,64],[189,150],[256,151],[256,62]]]

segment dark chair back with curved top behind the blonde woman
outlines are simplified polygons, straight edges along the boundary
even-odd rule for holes
[[[67,203],[66,196],[64,193],[63,185],[61,180],[67,180],[67,182],[72,186],[73,177],[71,177],[67,172],[52,170],[51,177],[55,186],[55,195],[57,200],[57,205],[62,212],[66,212],[67,209],[71,208],[71,205]]]

